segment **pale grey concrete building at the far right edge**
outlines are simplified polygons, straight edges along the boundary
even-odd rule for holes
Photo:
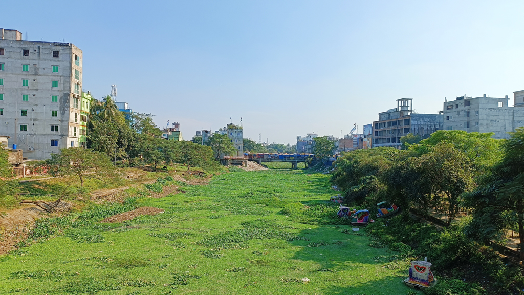
[[[520,91],[517,91],[520,92]],[[516,93],[515,105],[524,104]],[[524,126],[524,108],[508,106],[509,98],[457,97],[444,102],[444,129],[494,132],[495,139],[508,139],[507,132]]]

